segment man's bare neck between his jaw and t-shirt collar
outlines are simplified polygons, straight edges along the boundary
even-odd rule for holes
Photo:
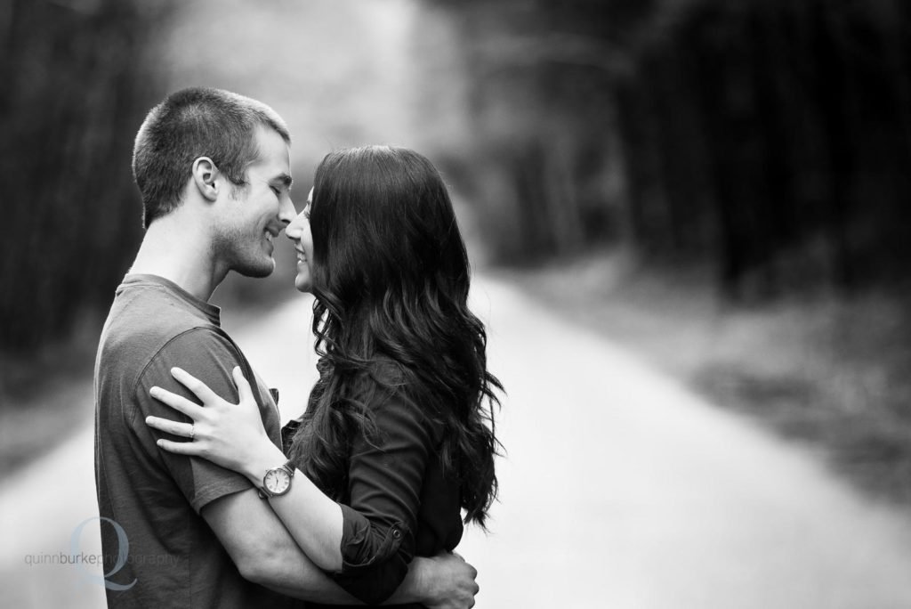
[[[208,301],[228,274],[211,250],[209,238],[195,229],[194,222],[182,222],[172,212],[148,226],[129,272],[164,277]]]

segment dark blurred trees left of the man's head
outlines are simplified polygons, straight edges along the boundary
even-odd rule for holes
[[[61,339],[107,307],[141,236],[129,160],[160,96],[145,55],[161,1],[0,8],[0,350]]]

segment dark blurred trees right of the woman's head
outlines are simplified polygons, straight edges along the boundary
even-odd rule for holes
[[[732,296],[906,279],[901,0],[435,0],[476,138],[454,171],[500,261],[616,243]]]

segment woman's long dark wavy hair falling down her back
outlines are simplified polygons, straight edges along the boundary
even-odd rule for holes
[[[496,498],[503,387],[468,309],[468,256],[443,180],[413,150],[332,152],[316,170],[310,224],[320,380],[292,459],[340,499],[353,439],[375,432],[367,405],[413,400],[443,424],[446,475],[458,480],[466,522],[483,527]]]

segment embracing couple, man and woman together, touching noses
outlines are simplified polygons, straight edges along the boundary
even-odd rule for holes
[[[125,537],[129,554],[107,604],[472,606],[476,571],[452,551],[496,495],[501,387],[445,185],[414,151],[341,150],[298,214],[290,143],[271,108],[209,88],[139,129],[146,234],[95,370],[102,548]],[[230,271],[271,274],[282,230],[320,373],[283,429],[209,303]]]

